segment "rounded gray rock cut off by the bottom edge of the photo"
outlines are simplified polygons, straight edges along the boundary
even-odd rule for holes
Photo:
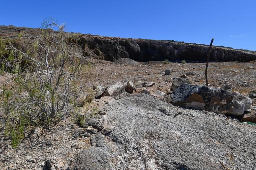
[[[69,168],[74,170],[111,169],[111,167],[108,152],[99,147],[78,152],[75,158],[69,163]]]

